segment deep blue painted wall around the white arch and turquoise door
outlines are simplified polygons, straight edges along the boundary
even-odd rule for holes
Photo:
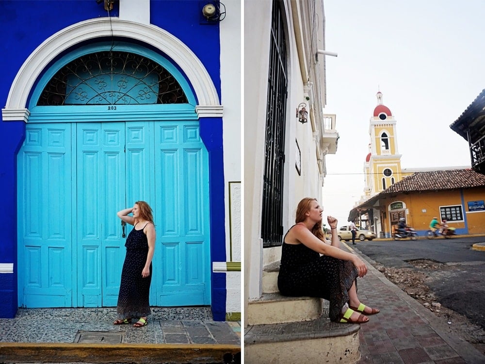
[[[198,0],[151,0],[152,24],[174,34],[201,60],[214,83],[219,98],[220,42],[219,25],[200,23]],[[117,17],[118,3],[110,12]],[[6,105],[8,92],[24,61],[45,39],[52,34],[83,20],[107,17],[103,4],[95,0],[15,0],[0,1],[0,54],[2,54],[2,77],[0,83],[0,106]],[[32,91],[32,90],[31,90]],[[23,105],[18,105],[23,107]],[[23,141],[23,121],[0,121],[2,158],[0,159],[0,206],[6,214],[2,224],[0,263],[14,263],[17,271],[17,223],[16,223],[16,153]],[[224,167],[222,158],[222,120],[201,120],[201,134],[209,150],[210,159],[210,229],[211,262],[226,261],[225,213],[224,213]],[[221,278],[224,276],[224,278]],[[214,318],[225,319],[225,275],[212,273],[212,311]],[[217,296],[217,297],[215,297]],[[13,317],[17,307],[16,273],[0,274],[0,317]],[[224,317],[223,317],[224,315]]]

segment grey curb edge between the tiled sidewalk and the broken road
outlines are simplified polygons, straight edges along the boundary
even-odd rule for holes
[[[485,363],[485,355],[478,351],[473,345],[468,341],[463,340],[458,335],[451,332],[450,328],[446,326],[443,322],[439,320],[433,313],[431,313],[427,308],[422,306],[417,300],[408,296],[401,288],[389,281],[386,276],[379,272],[374,265],[378,265],[377,262],[369,258],[367,255],[363,254],[359,250],[353,249],[346,244],[344,244],[353,253],[360,255],[364,260],[366,260],[369,265],[368,270],[372,271],[376,277],[386,284],[393,292],[404,300],[411,309],[413,309],[418,316],[427,322],[430,328],[432,328],[436,334],[438,334],[453,350],[466,362],[466,363]],[[384,266],[384,265],[383,265]],[[365,279],[365,277],[364,277]]]

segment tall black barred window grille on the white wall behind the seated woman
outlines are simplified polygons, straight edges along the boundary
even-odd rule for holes
[[[266,107],[265,165],[261,238],[263,247],[282,244],[283,167],[285,164],[285,119],[288,95],[286,38],[281,1],[273,1],[268,99]]]

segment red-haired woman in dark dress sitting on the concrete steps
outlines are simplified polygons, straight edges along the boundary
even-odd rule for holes
[[[335,217],[327,217],[332,239],[325,239],[322,212],[316,199],[298,204],[296,225],[283,238],[278,289],[283,296],[324,298],[330,301],[330,320],[363,324],[368,315],[379,313],[357,297],[356,279],[367,274],[367,266],[339,248]]]

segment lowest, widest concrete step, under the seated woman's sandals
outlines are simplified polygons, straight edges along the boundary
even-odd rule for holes
[[[337,324],[327,316],[304,322],[248,325],[244,363],[356,363],[360,325]]]

